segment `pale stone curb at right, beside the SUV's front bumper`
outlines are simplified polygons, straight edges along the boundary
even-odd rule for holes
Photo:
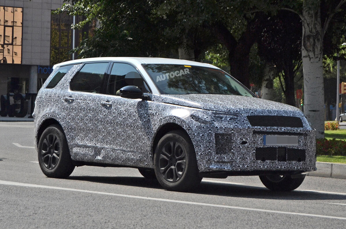
[[[346,179],[346,164],[316,162],[317,171],[307,172],[307,176]]]

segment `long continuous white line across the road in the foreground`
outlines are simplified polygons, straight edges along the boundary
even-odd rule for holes
[[[56,189],[56,190],[75,191],[75,192],[86,192],[86,193],[111,195],[111,196],[120,196],[120,197],[142,199],[142,200],[155,200],[155,201],[192,204],[192,205],[208,206],[208,207],[218,207],[218,208],[228,208],[228,209],[239,209],[239,210],[266,212],[266,213],[279,213],[279,214],[289,214],[289,215],[296,215],[296,216],[310,216],[310,217],[346,220],[346,217],[324,216],[324,215],[318,215],[318,214],[308,214],[308,213],[298,213],[298,212],[288,212],[288,211],[275,211],[275,210],[266,210],[266,209],[257,209],[257,208],[244,208],[244,207],[236,207],[236,206],[229,206],[229,205],[199,203],[199,202],[182,201],[182,200],[170,200],[170,199],[152,198],[152,197],[146,197],[146,196],[117,194],[117,193],[110,193],[110,192],[97,192],[97,191],[90,191],[90,190],[71,189],[71,188],[64,188],[64,187],[39,185],[39,184],[27,184],[27,183],[13,182],[13,181],[2,181],[2,180],[0,180],[0,184],[24,186],[24,187],[39,187],[39,188],[45,188],[45,189]]]

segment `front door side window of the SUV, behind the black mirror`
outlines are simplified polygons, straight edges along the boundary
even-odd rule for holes
[[[120,95],[120,89],[128,85],[137,86],[143,93],[150,93],[147,84],[136,68],[129,64],[114,63],[109,76],[108,93]]]

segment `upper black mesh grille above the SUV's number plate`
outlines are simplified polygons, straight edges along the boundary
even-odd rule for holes
[[[251,115],[247,116],[247,119],[251,126],[303,127],[303,122],[299,117]]]

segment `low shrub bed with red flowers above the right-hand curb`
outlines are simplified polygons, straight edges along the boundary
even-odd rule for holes
[[[317,155],[346,155],[346,141],[333,139],[316,139]]]

